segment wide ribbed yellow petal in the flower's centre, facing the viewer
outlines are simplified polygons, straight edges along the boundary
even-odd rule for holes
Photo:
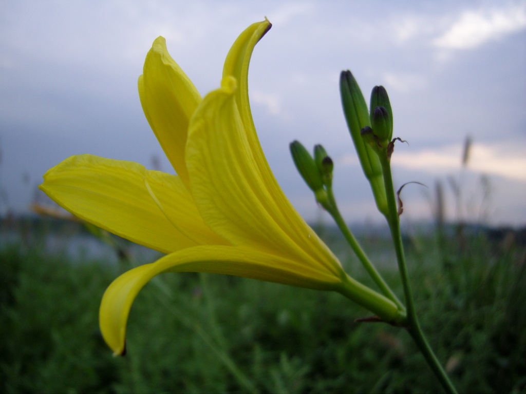
[[[225,78],[221,89],[204,98],[190,124],[187,166],[192,194],[205,223],[234,245],[259,248],[316,269],[324,267],[331,275],[343,275],[336,257],[304,222],[296,223],[303,225],[301,242],[287,232],[290,224],[284,221],[298,220],[299,215],[288,205],[292,212],[282,217],[262,181],[234,89],[234,78]],[[307,251],[304,245],[310,245]]]

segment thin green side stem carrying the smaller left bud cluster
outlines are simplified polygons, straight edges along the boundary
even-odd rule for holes
[[[371,263],[371,261],[369,260],[369,258],[367,257],[363,249],[361,248],[355,236],[349,230],[349,227],[345,223],[345,220],[343,220],[343,217],[341,216],[340,211],[338,210],[336,199],[334,198],[334,194],[332,192],[331,186],[327,186],[327,196],[328,196],[329,203],[327,204],[327,206],[325,206],[325,208],[335,220],[336,224],[340,228],[340,231],[343,233],[343,236],[345,236],[345,239],[351,246],[353,252],[355,252],[356,256],[358,257],[358,260],[360,260],[363,267],[365,267],[366,271],[369,273],[372,280],[375,281],[376,285],[381,290],[383,295],[385,295],[393,303],[395,303],[396,306],[400,310],[405,310],[406,308],[400,302],[396,294],[393,293],[393,291],[391,290],[389,285],[386,283],[386,281],[383,280],[382,276],[377,271],[376,267]]]

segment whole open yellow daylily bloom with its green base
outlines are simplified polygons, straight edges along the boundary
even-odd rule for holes
[[[81,219],[167,255],[120,275],[106,290],[100,329],[125,350],[129,309],[163,272],[237,275],[337,291],[386,320],[403,314],[350,278],[281,191],[260,147],[248,102],[248,64],[270,28],[249,26],[231,47],[221,87],[201,99],[158,37],[139,77],[146,118],[177,175],[83,154],[44,175],[50,198]]]

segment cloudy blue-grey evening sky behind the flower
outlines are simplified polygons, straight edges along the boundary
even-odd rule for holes
[[[525,1],[0,2],[0,214],[22,213],[44,172],[91,153],[173,172],[140,106],[137,78],[162,35],[201,95],[219,87],[230,45],[268,17],[249,71],[252,115],[278,182],[309,221],[329,223],[290,158],[321,143],[343,216],[381,223],[339,96],[351,70],[393,109],[402,222],[526,224]],[[463,145],[471,139],[462,166]],[[454,193],[460,185],[461,193]]]

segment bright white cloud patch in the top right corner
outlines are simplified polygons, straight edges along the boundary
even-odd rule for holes
[[[526,28],[526,3],[504,9],[480,9],[462,13],[433,45],[446,49],[473,49],[491,40]]]

